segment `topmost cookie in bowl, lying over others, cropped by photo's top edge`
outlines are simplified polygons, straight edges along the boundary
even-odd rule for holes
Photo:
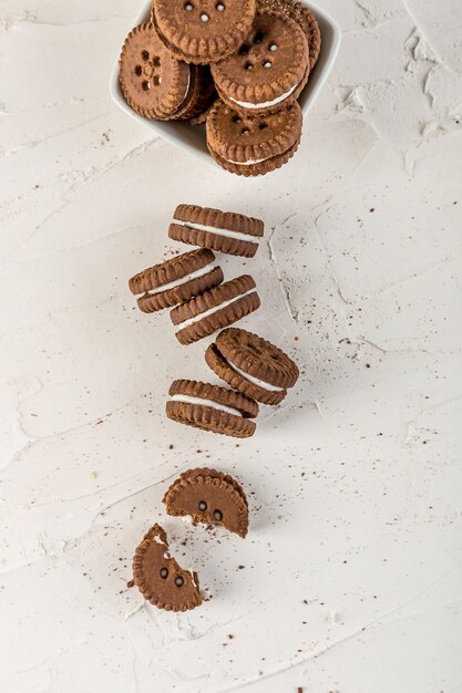
[[[196,64],[223,60],[243,43],[256,0],[153,0],[153,18],[164,44]]]

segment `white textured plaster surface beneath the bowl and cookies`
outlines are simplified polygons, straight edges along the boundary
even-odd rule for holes
[[[462,6],[324,4],[339,61],[256,180],[111,104],[132,2],[1,4],[1,691],[462,691]],[[267,223],[223,266],[304,374],[240,444],[164,418],[205,344],[126,287],[179,201]],[[245,485],[245,541],[165,518],[198,464]],[[189,614],[125,588],[155,520],[213,596]]]

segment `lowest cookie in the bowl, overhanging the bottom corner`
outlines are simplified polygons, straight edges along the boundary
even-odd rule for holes
[[[298,148],[301,110],[297,102],[265,116],[244,116],[217,102],[207,118],[207,146],[223,168],[259,176],[286,164]]]

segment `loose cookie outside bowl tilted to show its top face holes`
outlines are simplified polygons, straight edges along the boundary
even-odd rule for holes
[[[297,382],[298,366],[261,337],[229,328],[205,353],[211,369],[235,390],[263,404],[279,404]]]

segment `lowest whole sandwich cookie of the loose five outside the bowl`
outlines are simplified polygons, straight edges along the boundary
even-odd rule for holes
[[[248,438],[258,404],[238,392],[195,380],[175,380],[166,403],[168,418],[203,431]]]

